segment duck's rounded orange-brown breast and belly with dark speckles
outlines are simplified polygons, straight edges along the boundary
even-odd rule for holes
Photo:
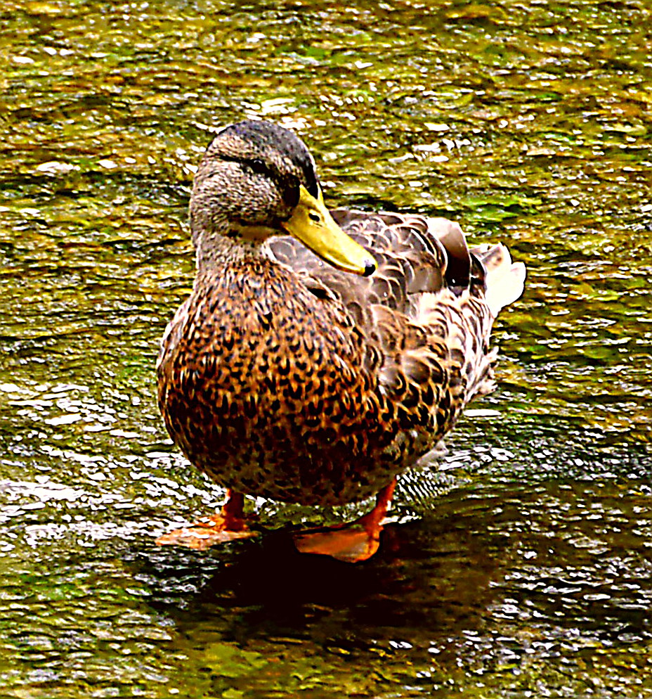
[[[164,338],[171,436],[241,492],[305,504],[377,492],[396,473],[388,447],[399,428],[373,342],[337,300],[273,262],[249,264],[260,267],[204,272]]]

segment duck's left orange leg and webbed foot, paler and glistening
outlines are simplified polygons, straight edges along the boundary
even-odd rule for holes
[[[242,513],[244,495],[229,489],[227,498],[219,512],[195,522],[190,527],[183,527],[169,534],[164,534],[156,540],[156,543],[161,546],[176,544],[177,546],[185,546],[187,549],[203,551],[213,544],[255,537],[256,532],[249,530]]]

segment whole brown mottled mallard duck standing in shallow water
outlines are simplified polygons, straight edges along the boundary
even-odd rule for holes
[[[304,142],[265,121],[216,134],[190,231],[197,274],[162,340],[159,406],[228,501],[159,543],[252,535],[244,494],[315,506],[377,494],[360,520],[294,536],[299,551],[369,558],[396,477],[492,389],[490,331],[523,264],[502,245],[469,250],[447,219],[329,212]]]

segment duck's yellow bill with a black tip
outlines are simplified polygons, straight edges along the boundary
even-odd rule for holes
[[[337,269],[362,276],[376,271],[372,255],[334,222],[324,204],[321,189],[315,198],[301,185],[299,203],[283,227]]]

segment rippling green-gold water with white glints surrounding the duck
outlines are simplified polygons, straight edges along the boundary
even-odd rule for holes
[[[25,1],[0,11],[0,696],[652,697],[643,1]],[[528,265],[500,388],[357,566],[155,535],[223,492],[155,405],[209,129],[297,129],[328,203]],[[436,495],[435,495],[436,494]]]

